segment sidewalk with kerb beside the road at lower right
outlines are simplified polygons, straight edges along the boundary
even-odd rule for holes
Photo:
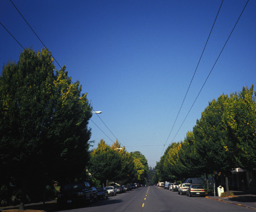
[[[209,194],[206,195],[206,198],[256,210],[256,193],[232,192],[234,197],[220,198],[215,193],[215,197],[214,194]]]

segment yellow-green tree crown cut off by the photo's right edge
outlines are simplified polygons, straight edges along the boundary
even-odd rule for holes
[[[228,99],[224,121],[227,124],[228,136],[235,145],[238,167],[254,170],[256,167],[256,93],[253,85],[243,87],[239,93],[232,93]]]

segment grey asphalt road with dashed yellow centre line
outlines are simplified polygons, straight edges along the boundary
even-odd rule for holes
[[[59,211],[59,210],[53,210]],[[186,197],[158,187],[141,187],[86,207],[68,206],[64,212],[250,212],[241,206],[202,197]]]

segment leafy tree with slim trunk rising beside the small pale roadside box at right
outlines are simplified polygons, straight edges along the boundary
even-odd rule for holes
[[[234,145],[228,136],[227,126],[223,121],[223,114],[227,107],[227,95],[221,95],[217,101],[213,100],[202,112],[193,128],[196,151],[205,161],[206,174],[214,170],[226,176],[226,191],[228,189],[228,173],[236,167]]]

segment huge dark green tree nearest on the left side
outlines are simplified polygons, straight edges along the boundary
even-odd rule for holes
[[[26,49],[0,76],[0,177],[22,189],[21,210],[32,181],[74,179],[88,161],[91,107],[65,67],[54,70],[46,49]]]

